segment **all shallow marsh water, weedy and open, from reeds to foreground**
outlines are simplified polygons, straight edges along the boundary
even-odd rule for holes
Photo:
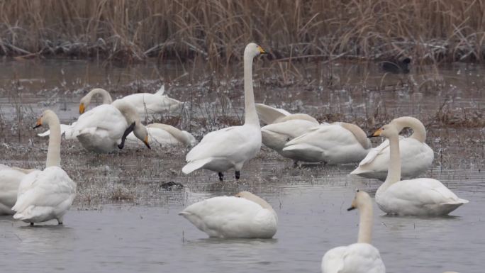
[[[359,118],[379,108],[389,119],[413,114],[433,121],[442,101],[450,100],[450,108],[476,111],[485,103],[481,95],[485,69],[476,65],[454,64],[439,71],[413,69],[406,77],[388,74],[383,79],[375,67],[335,64],[323,74],[338,78],[338,83],[331,88],[323,84],[322,89],[315,88],[315,82],[308,85],[310,89],[306,85],[271,87],[262,83],[267,72],[256,71],[256,100],[292,112],[344,113],[347,118]],[[206,104],[206,108],[194,110],[201,116],[210,108],[218,108],[211,114],[229,109],[231,115],[240,116],[240,82],[210,92],[206,85],[183,74],[184,69],[177,65],[157,67],[153,63],[133,68],[87,61],[4,60],[0,65],[0,126],[4,129],[0,136],[5,142],[0,151],[6,158],[0,163],[42,168],[47,140],[35,137],[33,130],[17,136],[16,121],[30,126],[43,108],[54,109],[64,122],[73,121],[78,116],[79,98],[96,86],[111,87],[117,97],[129,91],[155,91],[164,79],[172,81],[170,96]],[[316,77],[315,71],[310,74],[317,83],[330,80],[325,75]],[[435,78],[440,78],[437,82],[442,86],[428,86]],[[407,82],[396,84],[399,81]],[[233,89],[238,93],[229,94]],[[194,90],[197,95],[192,94]],[[221,101],[228,99],[232,106],[225,108]],[[211,102],[217,100],[220,102],[213,107]],[[191,120],[181,123],[199,137],[221,126],[213,121],[206,127],[196,127]],[[470,203],[447,218],[383,216],[374,205],[373,244],[380,250],[387,272],[481,272],[485,130],[433,126],[427,143],[435,150],[435,162],[425,177],[440,179]],[[65,225],[52,221],[32,228],[0,216],[2,272],[16,272],[20,267],[30,272],[319,272],[325,251],[357,240],[358,214],[346,211],[355,189],[373,195],[379,186],[374,180],[347,177],[355,165],[294,169],[290,160],[265,148],[245,166],[237,183],[232,172],[226,173],[223,184],[212,172],[182,174],[184,150],[179,148],[127,147],[111,155],[92,155],[75,141],[63,141],[62,165],[78,184],[77,199],[65,216]],[[184,184],[184,189],[163,190],[160,185],[169,181]],[[115,201],[117,189],[126,194],[121,202]],[[242,190],[258,194],[274,206],[279,216],[274,239],[208,239],[177,216],[195,201]]]

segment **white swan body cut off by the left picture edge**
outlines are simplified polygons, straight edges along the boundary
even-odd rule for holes
[[[18,185],[26,172],[0,164],[0,215],[13,215],[12,206],[17,201]]]

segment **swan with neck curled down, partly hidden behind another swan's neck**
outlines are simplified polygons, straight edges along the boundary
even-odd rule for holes
[[[394,120],[395,123],[397,121],[403,128],[408,127],[413,130],[413,134],[409,138],[399,139],[401,177],[406,179],[417,177],[433,165],[435,157],[433,150],[425,143],[426,129],[417,118],[403,116]],[[359,163],[359,167],[350,174],[384,181],[388,166],[389,140],[384,140],[381,145],[370,150],[367,157]]]

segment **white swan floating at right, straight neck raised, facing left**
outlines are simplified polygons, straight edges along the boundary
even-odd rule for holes
[[[388,138],[391,152],[386,181],[376,193],[379,208],[385,213],[400,216],[444,216],[468,203],[436,179],[401,180],[398,135],[403,128],[401,121],[399,118],[391,121],[371,135]]]

